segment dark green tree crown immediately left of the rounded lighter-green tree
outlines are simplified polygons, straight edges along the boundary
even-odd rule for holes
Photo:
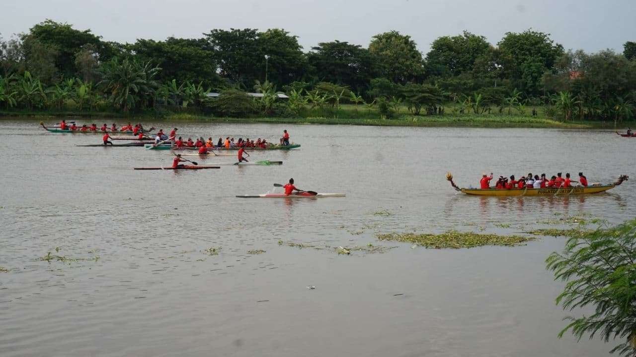
[[[371,79],[378,75],[377,65],[369,50],[357,44],[322,42],[312,50],[307,58],[313,76],[319,81],[366,92]]]

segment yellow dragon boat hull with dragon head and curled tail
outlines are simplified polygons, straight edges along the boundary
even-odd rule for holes
[[[616,182],[607,185],[593,184],[588,187],[576,186],[576,187],[562,187],[562,188],[544,188],[544,189],[476,189],[476,188],[460,188],[453,182],[453,175],[450,172],[446,173],[446,180],[450,181],[455,191],[459,191],[465,194],[475,196],[569,196],[570,194],[592,194],[598,192],[605,192],[609,189],[623,183],[628,180],[627,175],[621,175]]]

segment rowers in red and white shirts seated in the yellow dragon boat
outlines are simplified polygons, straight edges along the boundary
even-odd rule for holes
[[[567,187],[576,187],[574,184],[580,185],[581,187],[588,187],[588,179],[583,175],[583,172],[579,172],[579,180],[574,181],[570,179],[570,173],[565,173],[565,179],[562,177],[562,174],[559,172],[556,176],[550,177],[550,179],[546,179],[546,174],[542,173],[539,175],[532,175],[529,173],[527,176],[520,178],[519,180],[515,179],[515,175],[512,175],[510,179],[499,176],[497,182],[494,187],[490,187],[490,180],[492,180],[492,172],[490,176],[483,173],[481,175],[480,187],[481,189],[546,189],[546,188],[567,188]]]

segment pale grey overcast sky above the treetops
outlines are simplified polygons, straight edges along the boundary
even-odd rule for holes
[[[305,50],[338,39],[367,46],[387,30],[409,34],[423,53],[439,36],[469,30],[496,44],[505,32],[548,32],[566,49],[623,51],[636,41],[636,0],[4,0],[0,33],[51,18],[106,41],[201,37],[211,29],[278,27]]]

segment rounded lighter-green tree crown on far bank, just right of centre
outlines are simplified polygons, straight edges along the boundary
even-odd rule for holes
[[[422,53],[411,36],[397,31],[373,36],[369,51],[377,58],[382,76],[395,83],[406,83],[422,76],[424,61]]]

